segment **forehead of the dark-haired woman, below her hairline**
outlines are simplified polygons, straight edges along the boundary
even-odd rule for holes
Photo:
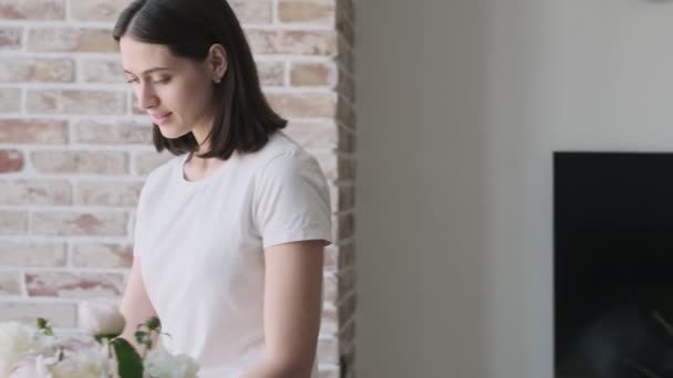
[[[139,42],[128,36],[120,40],[120,52],[123,69],[134,74],[157,66],[178,67],[183,63],[166,45]]]

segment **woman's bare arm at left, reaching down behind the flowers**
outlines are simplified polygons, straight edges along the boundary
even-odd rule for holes
[[[124,297],[122,298],[122,305],[120,311],[126,319],[126,326],[122,337],[133,345],[138,353],[144,350],[135,340],[135,332],[137,325],[145,323],[148,318],[157,316],[156,311],[149,302],[145,283],[143,282],[143,275],[141,272],[141,259],[134,258],[133,265],[131,266],[131,273],[128,274],[128,283],[124,291]]]

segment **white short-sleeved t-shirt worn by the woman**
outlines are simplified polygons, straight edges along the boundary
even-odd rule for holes
[[[186,159],[148,176],[135,254],[164,346],[194,357],[201,378],[237,377],[263,351],[263,248],[331,241],[330,193],[315,159],[280,132],[197,181]]]

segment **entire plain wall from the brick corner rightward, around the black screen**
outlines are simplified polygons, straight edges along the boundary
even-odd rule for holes
[[[358,7],[361,377],[551,377],[551,151],[673,150],[673,3]]]

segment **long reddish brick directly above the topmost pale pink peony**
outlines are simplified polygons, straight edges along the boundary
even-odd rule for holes
[[[28,272],[25,285],[30,296],[97,298],[120,296],[124,279],[112,273]]]

